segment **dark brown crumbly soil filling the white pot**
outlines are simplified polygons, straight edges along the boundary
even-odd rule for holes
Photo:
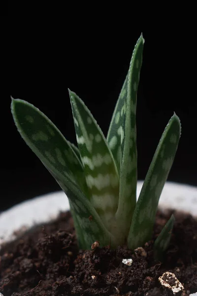
[[[153,241],[171,212],[158,212]],[[70,213],[36,226],[0,251],[3,296],[172,296],[158,278],[169,271],[183,284],[186,296],[197,292],[197,220],[175,213],[170,246],[162,262],[154,261],[153,241],[142,246],[147,257],[118,248],[77,249]],[[132,258],[131,266],[122,259]]]

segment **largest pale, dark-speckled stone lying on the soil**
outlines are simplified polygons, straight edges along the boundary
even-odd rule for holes
[[[159,277],[159,281],[161,285],[164,287],[171,289],[173,294],[176,294],[180,292],[181,290],[184,290],[183,285],[179,282],[177,277],[174,273],[166,271],[163,273],[162,276]]]

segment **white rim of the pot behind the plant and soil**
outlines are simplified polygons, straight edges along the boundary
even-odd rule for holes
[[[143,181],[137,182],[137,197]],[[166,182],[159,208],[176,209],[197,216],[197,186]],[[63,191],[51,192],[19,203],[0,214],[0,247],[36,224],[55,220],[61,211],[69,210]]]

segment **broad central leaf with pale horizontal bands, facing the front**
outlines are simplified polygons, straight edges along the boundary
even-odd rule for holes
[[[117,234],[114,216],[118,206],[119,178],[113,155],[83,101],[71,91],[69,95],[91,204],[107,229]]]

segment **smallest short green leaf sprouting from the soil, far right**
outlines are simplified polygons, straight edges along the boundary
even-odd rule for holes
[[[174,221],[175,221],[174,215],[171,215],[170,219],[167,221],[161,233],[157,237],[154,243],[155,259],[158,259],[158,260],[163,259],[164,251],[167,249],[170,242]]]

